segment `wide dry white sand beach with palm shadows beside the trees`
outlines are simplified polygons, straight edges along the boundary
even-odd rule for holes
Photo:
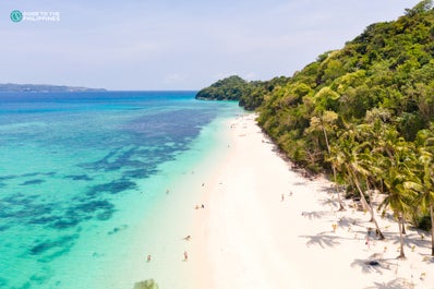
[[[291,169],[255,115],[228,125],[228,154],[197,180],[195,204],[204,208],[192,204],[191,239],[183,241],[191,288],[434,288],[429,233],[408,229],[407,258],[397,260],[398,226],[378,216],[387,240],[366,243],[369,214],[350,201],[338,212],[333,184]]]

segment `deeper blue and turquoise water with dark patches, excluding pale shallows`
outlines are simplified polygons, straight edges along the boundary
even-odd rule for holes
[[[64,288],[53,262],[234,106],[194,92],[0,94],[0,288]]]

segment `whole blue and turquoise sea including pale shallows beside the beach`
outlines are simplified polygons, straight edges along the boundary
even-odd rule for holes
[[[161,275],[141,264],[170,251],[153,240],[167,229],[158,206],[239,112],[193,92],[0,94],[0,288],[121,289]]]

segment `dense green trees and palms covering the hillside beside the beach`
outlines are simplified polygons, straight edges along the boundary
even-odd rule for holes
[[[405,217],[418,224],[431,215],[434,226],[432,7],[424,0],[292,77],[245,83],[239,94],[294,162],[333,172],[362,196],[384,193],[400,231]]]

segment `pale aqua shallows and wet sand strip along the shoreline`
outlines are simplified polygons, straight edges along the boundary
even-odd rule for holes
[[[205,212],[195,206],[202,204],[206,180],[213,178],[215,166],[219,166],[228,154],[230,134],[226,124],[241,111],[230,107],[203,128],[189,150],[179,154],[176,160],[162,164],[158,176],[140,184],[145,193],[156,189],[158,192],[147,212],[137,206],[135,198],[125,204],[123,209],[134,207],[142,217],[136,218],[134,227],[123,231],[122,238],[129,233],[124,250],[128,252],[121,263],[128,267],[113,267],[111,274],[105,273],[109,276],[107,288],[133,288],[135,282],[146,279],[154,279],[159,288],[192,288],[198,261],[192,249],[196,240],[184,238],[194,236],[195,218]],[[188,252],[188,261],[184,261],[183,252]],[[150,255],[149,262],[147,255]]]

